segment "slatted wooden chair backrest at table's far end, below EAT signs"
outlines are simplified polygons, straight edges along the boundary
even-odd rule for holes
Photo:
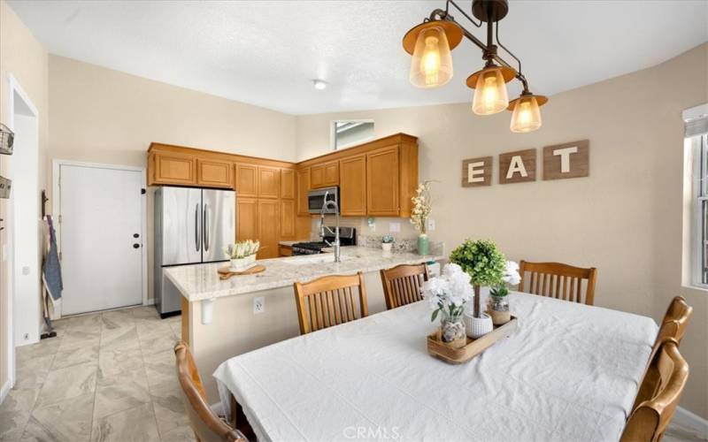
[[[529,273],[527,277],[526,273]],[[519,291],[592,305],[597,269],[564,263],[519,263]],[[584,282],[583,282],[584,281]],[[584,290],[583,290],[584,288]],[[585,293],[583,300],[583,292]]]

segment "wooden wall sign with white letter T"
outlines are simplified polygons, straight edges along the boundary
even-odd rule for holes
[[[543,179],[587,177],[590,141],[573,141],[543,148]]]

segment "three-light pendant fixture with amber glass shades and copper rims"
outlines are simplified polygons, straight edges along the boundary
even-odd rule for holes
[[[486,43],[481,42],[450,15],[450,5],[475,27],[487,23]],[[450,51],[458,46],[463,36],[473,42],[481,49],[482,59],[486,60],[480,71],[467,77],[467,87],[474,89],[473,112],[477,115],[493,115],[504,109],[511,110],[512,132],[527,133],[541,127],[539,107],[547,103],[548,98],[529,92],[526,77],[521,72],[521,61],[499,42],[499,20],[504,19],[508,11],[507,0],[473,0],[472,14],[480,20],[477,22],[454,1],[447,0],[444,11],[432,11],[423,23],[405,34],[403,44],[404,50],[412,55],[411,83],[418,88],[438,88],[452,78]],[[498,48],[516,60],[518,68],[499,57]],[[510,103],[506,83],[514,79],[521,82],[523,92]]]

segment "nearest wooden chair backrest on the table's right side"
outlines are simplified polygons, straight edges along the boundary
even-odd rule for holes
[[[668,338],[653,355],[650,370],[644,375],[635,408],[622,432],[622,442],[656,442],[661,439],[679,405],[681,392],[689,378],[689,364],[679,353],[679,344]]]

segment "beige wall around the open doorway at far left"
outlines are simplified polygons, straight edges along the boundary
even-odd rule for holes
[[[0,0],[0,122],[7,124],[10,118],[10,93],[8,76],[12,74],[19,85],[29,95],[39,112],[39,185],[46,186],[46,151],[48,145],[49,94],[47,91],[48,65],[47,51],[35,40],[29,29],[19,20],[14,11]],[[12,158],[0,157],[0,175],[12,176]],[[7,220],[9,200],[0,200],[0,218]],[[23,202],[24,203],[24,202]],[[35,202],[39,204],[39,195]],[[0,232],[0,248],[7,244],[7,232]],[[11,348],[7,346],[9,324],[9,293],[7,287],[8,264],[0,264],[0,388],[9,379],[7,362]]]

